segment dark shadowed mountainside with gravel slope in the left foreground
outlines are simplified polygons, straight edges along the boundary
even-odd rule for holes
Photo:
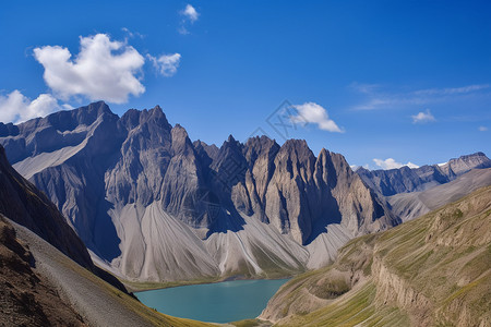
[[[94,266],[63,216],[15,172],[1,146],[0,182],[0,325],[212,326],[144,306]]]

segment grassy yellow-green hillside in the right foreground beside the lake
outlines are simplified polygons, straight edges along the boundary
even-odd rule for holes
[[[275,326],[490,326],[491,187],[350,241],[260,318]]]

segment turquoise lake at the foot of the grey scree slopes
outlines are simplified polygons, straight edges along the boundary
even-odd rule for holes
[[[255,318],[288,279],[232,280],[136,292],[158,312],[209,323]]]

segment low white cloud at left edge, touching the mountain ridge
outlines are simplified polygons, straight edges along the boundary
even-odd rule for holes
[[[63,105],[64,107],[64,105]],[[58,100],[50,94],[40,94],[31,100],[15,89],[7,96],[0,95],[0,121],[20,123],[60,110]]]

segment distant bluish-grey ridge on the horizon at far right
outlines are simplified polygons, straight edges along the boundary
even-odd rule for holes
[[[455,180],[471,169],[491,168],[491,160],[483,153],[462,156],[446,164],[390,170],[359,168],[357,173],[372,190],[384,196],[426,191]]]

